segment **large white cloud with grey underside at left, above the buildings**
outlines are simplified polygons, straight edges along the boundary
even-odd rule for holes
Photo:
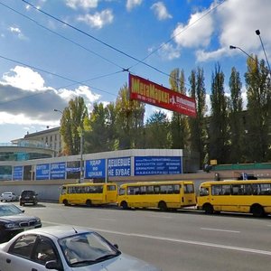
[[[30,68],[16,66],[6,73],[0,81],[0,124],[56,126],[60,117],[54,108],[63,110],[71,98],[82,97],[91,111],[100,98],[87,86],[57,90],[44,85],[42,76]]]

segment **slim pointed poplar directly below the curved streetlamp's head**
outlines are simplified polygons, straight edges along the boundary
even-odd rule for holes
[[[245,127],[243,125],[242,114],[242,83],[238,71],[233,67],[229,78],[229,140],[230,140],[230,156],[229,163],[244,163],[244,135]]]

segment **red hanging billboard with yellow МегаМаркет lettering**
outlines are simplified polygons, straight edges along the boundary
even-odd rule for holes
[[[130,99],[140,100],[146,104],[162,107],[190,117],[196,117],[194,98],[164,88],[152,81],[129,73]]]

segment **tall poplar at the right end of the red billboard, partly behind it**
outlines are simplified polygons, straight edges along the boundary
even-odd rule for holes
[[[191,149],[200,154],[201,167],[203,164],[208,163],[208,161],[204,160],[206,156],[205,144],[207,132],[205,115],[207,107],[203,69],[192,70],[189,81],[191,85],[190,95],[196,100],[197,110],[197,117],[189,118]]]

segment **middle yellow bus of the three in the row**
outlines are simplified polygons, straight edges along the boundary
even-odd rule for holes
[[[196,206],[194,183],[173,181],[122,184],[119,188],[117,204],[123,209],[158,208],[160,210]]]

